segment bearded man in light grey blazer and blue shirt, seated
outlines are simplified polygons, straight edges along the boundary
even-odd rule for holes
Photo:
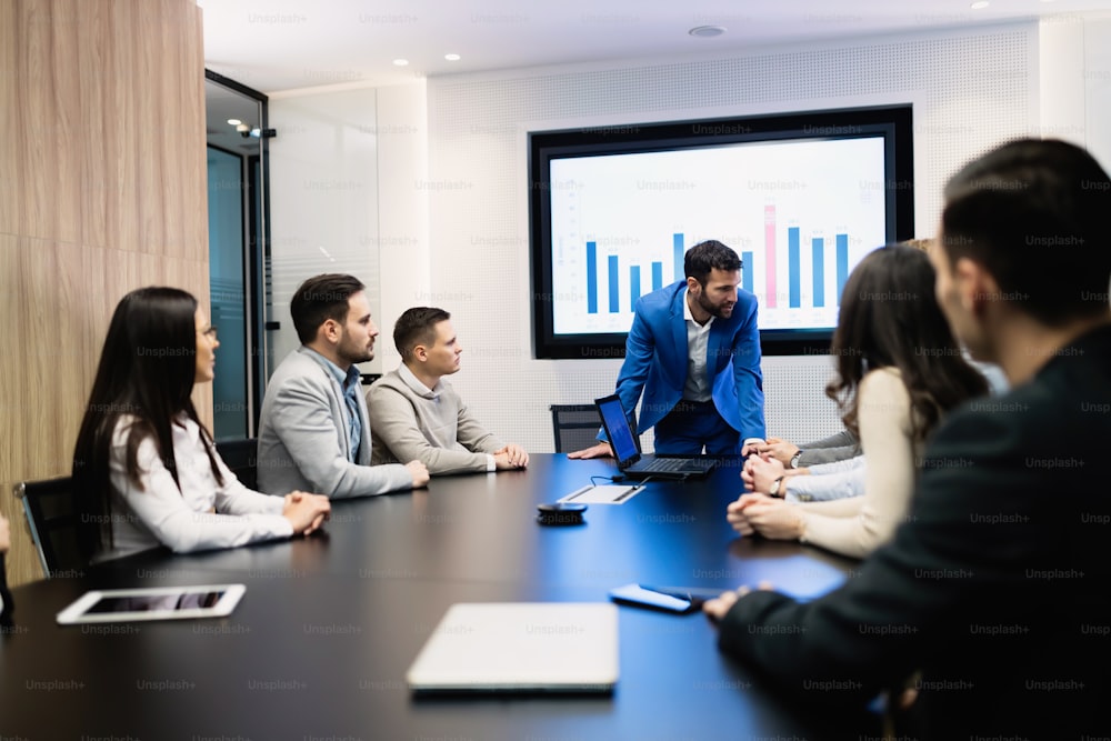
[[[259,490],[332,498],[423,487],[420,461],[371,465],[371,431],[356,363],[374,357],[378,328],[366,286],[344,274],[301,283],[290,302],[301,347],[278,367],[262,401]]]

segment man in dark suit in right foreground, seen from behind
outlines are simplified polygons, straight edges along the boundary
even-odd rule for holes
[[[920,671],[909,735],[1107,735],[1111,181],[1071,144],[1012,142],[950,180],[940,237],[939,302],[1011,392],[943,423],[907,521],[842,588],[705,611],[722,651],[813,701]]]

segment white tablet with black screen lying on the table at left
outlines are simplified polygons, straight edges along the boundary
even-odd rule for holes
[[[104,589],[86,592],[58,613],[62,625],[132,620],[221,618],[231,614],[247,588],[243,584]]]

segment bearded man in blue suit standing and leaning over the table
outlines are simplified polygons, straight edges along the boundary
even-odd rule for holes
[[[764,438],[757,298],[740,290],[741,260],[717,240],[683,260],[685,281],[637,302],[617,393],[655,428],[655,452],[737,455]],[[612,455],[599,444],[568,458]]]

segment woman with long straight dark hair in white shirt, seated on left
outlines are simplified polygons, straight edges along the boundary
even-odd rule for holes
[[[190,399],[219,344],[186,291],[141,288],[116,307],[73,453],[90,560],[308,534],[328,515],[327,497],[251,491],[220,460]]]

